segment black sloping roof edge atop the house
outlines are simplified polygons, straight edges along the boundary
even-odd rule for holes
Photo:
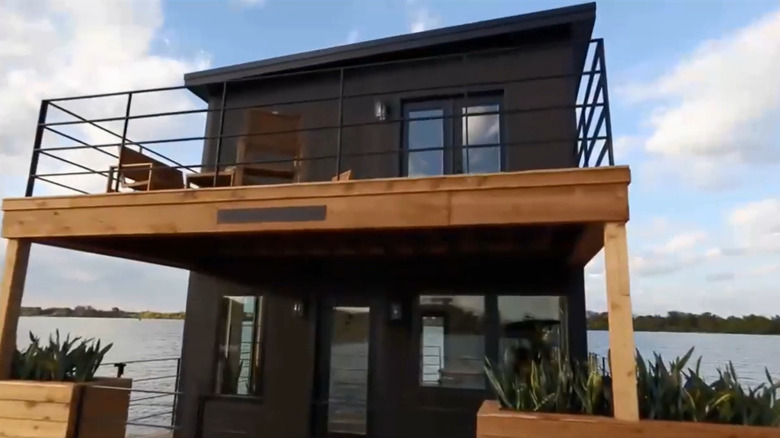
[[[205,85],[318,65],[356,60],[399,50],[454,43],[476,38],[539,29],[576,21],[596,20],[596,3],[584,3],[522,15],[478,21],[424,32],[363,41],[355,44],[312,50],[276,58],[187,73],[184,85],[205,98]]]

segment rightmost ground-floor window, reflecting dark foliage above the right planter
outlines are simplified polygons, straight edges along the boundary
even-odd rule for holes
[[[499,296],[498,313],[503,360],[550,359],[561,352],[560,297]]]

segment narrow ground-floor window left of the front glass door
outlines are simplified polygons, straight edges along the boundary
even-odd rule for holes
[[[259,395],[262,370],[262,297],[223,297],[217,392]]]

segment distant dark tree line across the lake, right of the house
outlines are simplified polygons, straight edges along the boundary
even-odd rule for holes
[[[607,330],[606,313],[588,314],[590,330]],[[722,317],[712,313],[669,312],[662,315],[634,316],[634,330],[638,332],[700,332],[741,333],[751,335],[780,335],[780,316],[760,315]]]

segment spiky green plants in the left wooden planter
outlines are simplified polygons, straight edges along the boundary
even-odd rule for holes
[[[41,346],[40,338],[30,333],[30,345],[16,350],[13,377],[22,380],[86,382],[94,379],[113,344],[101,348],[100,341],[67,335],[61,339],[57,330],[49,336],[47,345]]]

